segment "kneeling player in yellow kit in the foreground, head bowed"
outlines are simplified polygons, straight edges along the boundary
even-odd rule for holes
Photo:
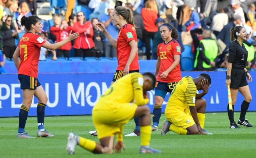
[[[124,125],[132,119],[140,118],[141,149],[140,153],[161,153],[152,149],[151,119],[148,106],[147,91],[155,87],[156,78],[152,73],[129,73],[118,81],[99,98],[92,109],[92,120],[96,127],[100,144],[95,141],[69,133],[67,153],[74,154],[76,145],[92,153],[113,153],[114,136],[117,135],[115,152],[120,153],[125,149],[123,144]],[[135,100],[135,103],[131,103]]]

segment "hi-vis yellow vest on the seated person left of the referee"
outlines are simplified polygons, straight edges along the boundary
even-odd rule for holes
[[[214,39],[203,39],[199,42],[199,44],[202,43],[204,50],[205,50],[205,56],[210,60],[210,62],[213,62],[214,59],[218,55],[218,45]],[[199,48],[197,48],[196,52],[196,60],[194,63],[194,68],[197,66],[197,60],[199,55]],[[210,68],[211,66],[206,64],[206,62],[203,61],[203,68]]]

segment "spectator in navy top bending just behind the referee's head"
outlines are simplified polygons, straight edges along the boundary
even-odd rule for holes
[[[231,44],[230,33],[229,33],[230,29],[232,27],[235,27],[236,25],[240,25],[241,22],[242,22],[241,16],[235,15],[233,16],[233,19],[231,19],[231,21],[227,25],[225,25],[223,29],[219,32],[217,39],[220,39],[221,41],[224,42],[224,44],[226,44],[226,48],[223,52],[224,54],[228,53],[228,48],[229,48],[229,45]]]

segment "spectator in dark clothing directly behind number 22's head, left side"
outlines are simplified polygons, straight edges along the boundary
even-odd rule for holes
[[[160,33],[160,26],[164,23],[163,18],[157,18],[156,25],[158,27],[158,31],[155,34],[154,40],[153,40],[153,52],[152,52],[152,59],[157,59],[157,46],[163,42],[163,39],[161,37]]]

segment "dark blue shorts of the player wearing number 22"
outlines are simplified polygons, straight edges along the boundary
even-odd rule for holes
[[[165,98],[166,94],[173,91],[174,87],[178,84],[178,82],[160,82],[157,81],[155,85],[155,96],[161,96]]]

